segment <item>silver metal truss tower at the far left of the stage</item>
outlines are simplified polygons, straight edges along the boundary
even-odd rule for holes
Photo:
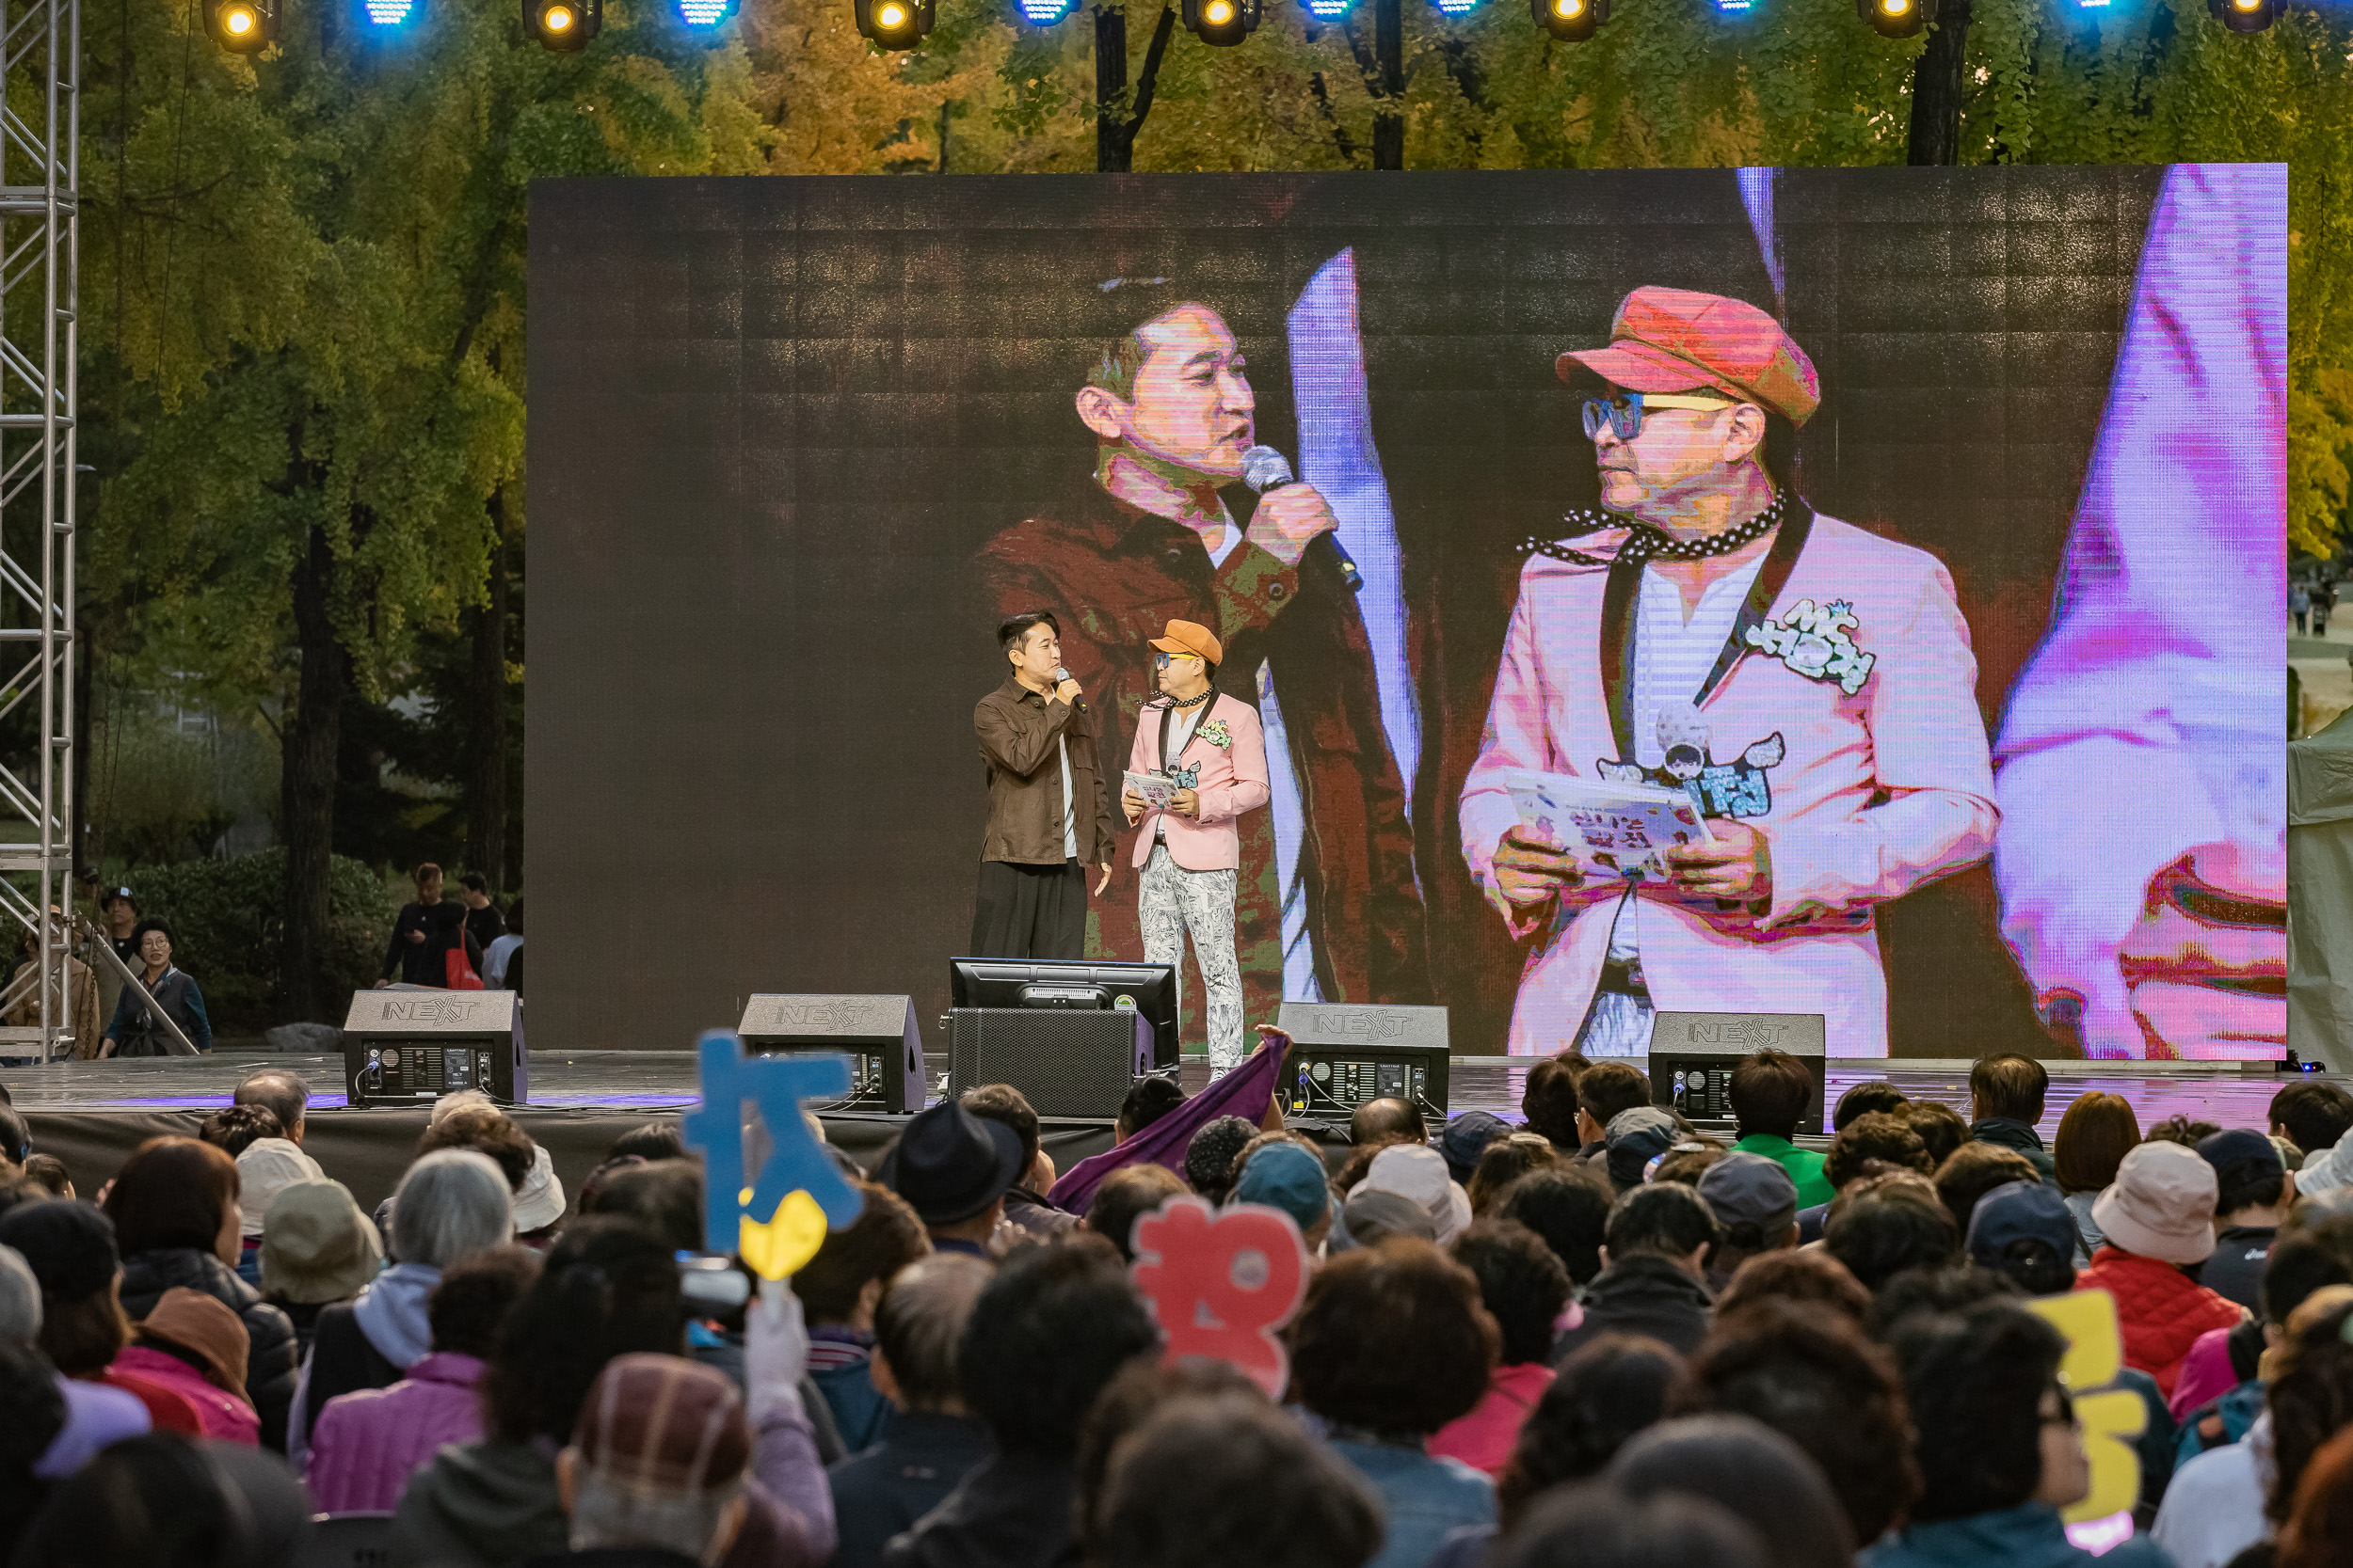
[[[73,1046],[73,414],[80,0],[0,0],[0,931],[38,966],[0,990],[0,1056]],[[9,973],[14,961],[0,964]],[[82,973],[82,985],[89,973]]]

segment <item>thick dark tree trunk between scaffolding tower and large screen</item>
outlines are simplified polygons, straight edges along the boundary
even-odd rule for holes
[[[344,686],[351,679],[344,642],[334,635],[334,552],[327,531],[311,529],[294,564],[294,646],[301,684],[285,726],[282,816],[287,884],[280,969],[287,1018],[334,1023],[327,994],[327,856],[334,849],[334,750],[341,731]]]

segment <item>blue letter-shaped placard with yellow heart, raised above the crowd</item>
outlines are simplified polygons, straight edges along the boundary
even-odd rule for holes
[[[734,1030],[696,1044],[704,1100],[685,1117],[704,1154],[704,1246],[744,1253],[760,1279],[786,1279],[816,1255],[826,1229],[859,1218],[859,1197],[802,1121],[802,1100],[849,1091],[847,1056],[744,1056]],[[744,1168],[744,1105],[767,1131],[767,1157]]]

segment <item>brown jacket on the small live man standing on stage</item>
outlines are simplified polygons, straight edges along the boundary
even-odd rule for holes
[[[1085,701],[1085,698],[1080,698]],[[972,708],[988,766],[988,832],[981,860],[1061,865],[1061,757],[1071,755],[1071,832],[1080,865],[1106,865],[1118,844],[1111,790],[1096,757],[1094,715],[1049,701],[1014,677]],[[1056,741],[1066,745],[1056,745]]]

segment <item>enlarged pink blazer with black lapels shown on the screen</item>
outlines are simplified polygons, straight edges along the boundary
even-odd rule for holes
[[[1520,1056],[1577,1039],[1626,889],[1586,882],[1558,910],[1515,914],[1492,875],[1497,844],[1520,820],[1504,773],[1595,778],[1605,762],[1633,759],[1624,733],[1633,576],[1527,559],[1487,736],[1464,783],[1464,860],[1513,936],[1537,936],[1511,1016],[1511,1051]],[[1826,625],[1807,609],[1835,609],[1852,623]],[[1800,621],[1812,632],[1798,630]],[[1835,668],[1824,665],[1826,651]],[[1772,905],[1718,910],[1713,898],[1694,903],[1640,884],[1652,1004],[1675,1013],[1824,1013],[1831,1056],[1887,1056],[1887,976],[1871,910],[1986,858],[2000,820],[1953,578],[1925,550],[1833,517],[1793,515],[1758,569],[1699,712],[1711,778],[1746,792],[1751,811],[1765,806],[1744,820],[1769,842]]]

